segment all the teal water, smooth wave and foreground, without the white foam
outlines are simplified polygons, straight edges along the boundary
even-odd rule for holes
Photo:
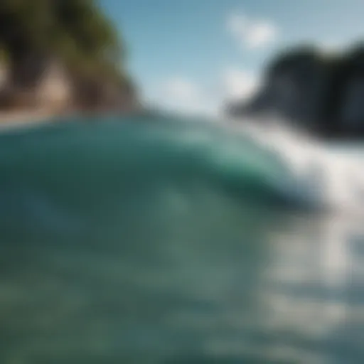
[[[0,362],[363,363],[360,218],[206,122],[0,135]]]

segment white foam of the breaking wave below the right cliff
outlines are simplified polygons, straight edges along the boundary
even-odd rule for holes
[[[338,212],[364,213],[364,153],[330,148],[277,119],[232,125],[289,166],[292,193]]]

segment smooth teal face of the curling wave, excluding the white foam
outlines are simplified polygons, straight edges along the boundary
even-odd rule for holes
[[[109,118],[7,132],[0,137],[0,176],[3,230],[118,225],[138,203],[141,210],[163,204],[161,196],[186,205],[208,194],[250,206],[305,202],[294,196],[280,156],[244,134],[198,121]]]

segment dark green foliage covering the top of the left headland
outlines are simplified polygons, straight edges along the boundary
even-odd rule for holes
[[[85,72],[117,73],[124,55],[95,0],[1,0],[0,46],[15,63],[30,53],[50,54]]]

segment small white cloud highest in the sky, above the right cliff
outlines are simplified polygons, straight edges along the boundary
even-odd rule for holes
[[[232,14],[228,18],[228,31],[247,48],[261,48],[278,36],[278,28],[272,21],[248,18],[241,14]]]

